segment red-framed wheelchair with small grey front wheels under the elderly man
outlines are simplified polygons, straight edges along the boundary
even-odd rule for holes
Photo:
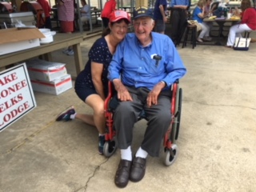
[[[114,101],[114,86],[112,82],[109,82],[109,94],[105,100],[104,108],[105,108],[105,117],[106,117],[106,134],[105,134],[105,144],[103,147],[103,154],[106,158],[109,158],[112,154],[114,154],[117,149],[118,143],[115,138],[115,130],[114,130],[114,108],[118,105],[117,99]],[[178,86],[178,80],[174,82],[171,86],[170,91],[172,92],[171,98],[171,109],[170,113],[172,114],[170,127],[166,131],[166,134],[163,138],[163,147],[165,151],[164,164],[166,166],[172,165],[178,155],[178,146],[175,144],[175,141],[178,139],[179,127],[181,122],[181,114],[182,114],[182,88]],[[146,118],[144,112],[139,115],[138,120]]]

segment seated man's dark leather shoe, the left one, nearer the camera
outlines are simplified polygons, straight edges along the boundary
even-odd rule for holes
[[[118,187],[126,187],[129,182],[131,162],[121,159],[118,165],[118,170],[114,177],[114,184]]]

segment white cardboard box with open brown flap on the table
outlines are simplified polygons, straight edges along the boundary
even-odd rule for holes
[[[0,37],[0,55],[40,46],[39,38],[45,38],[37,28],[0,30]]]

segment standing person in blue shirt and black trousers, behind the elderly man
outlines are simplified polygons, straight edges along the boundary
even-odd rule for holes
[[[174,45],[177,46],[186,30],[187,10],[190,7],[190,0],[172,0],[171,7],[170,38],[173,40]]]

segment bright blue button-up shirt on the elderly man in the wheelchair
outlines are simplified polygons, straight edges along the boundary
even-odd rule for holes
[[[125,86],[146,87],[152,90],[161,81],[171,86],[178,78],[186,74],[174,43],[165,34],[152,32],[152,42],[142,47],[134,33],[118,45],[108,68],[108,78],[120,78]],[[162,56],[157,63],[154,55]]]

